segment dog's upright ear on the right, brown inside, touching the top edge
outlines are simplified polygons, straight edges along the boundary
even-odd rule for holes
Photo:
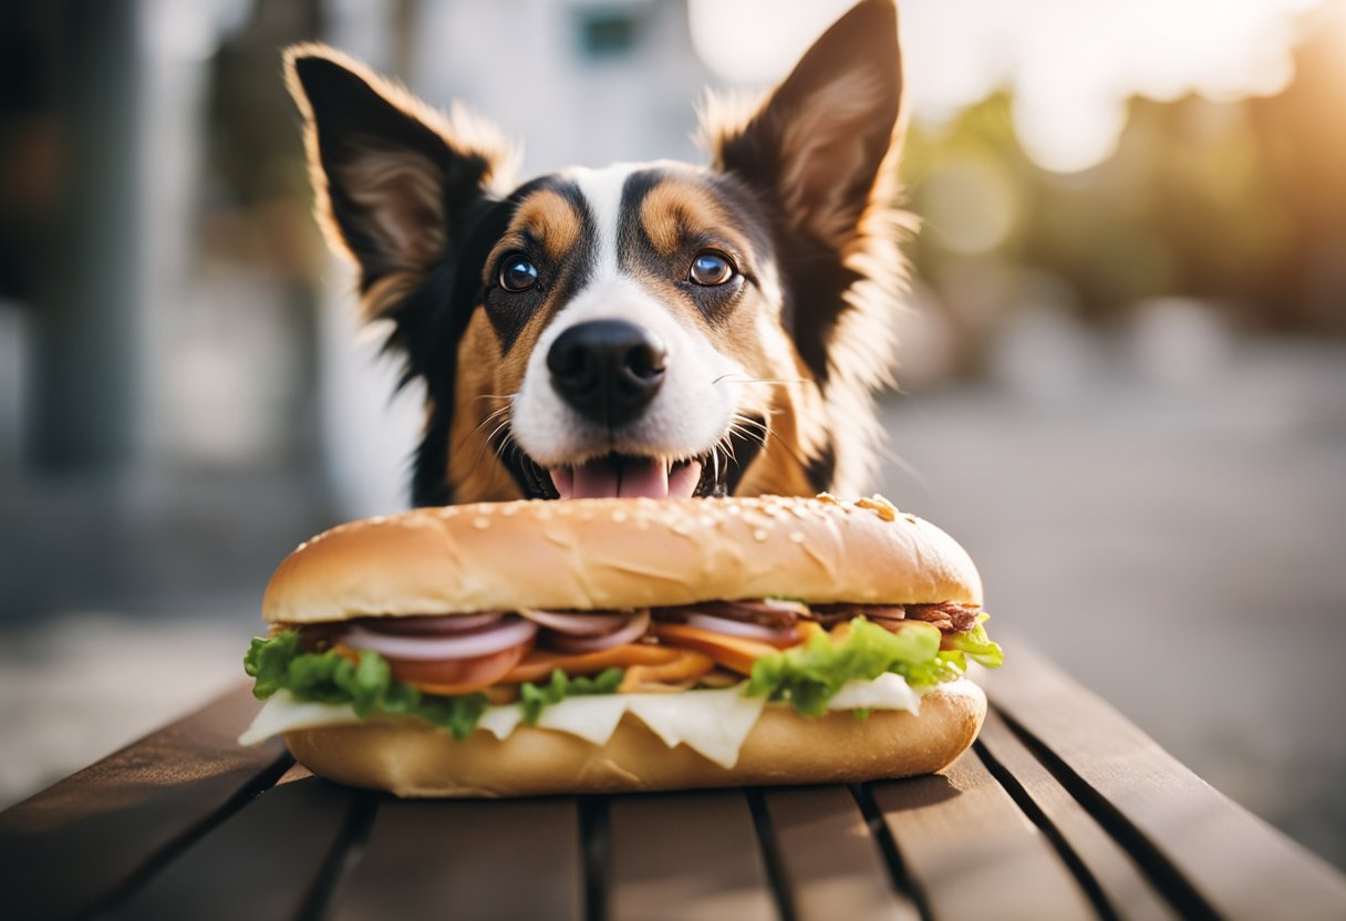
[[[900,109],[896,9],[892,0],[864,0],[743,124],[703,133],[717,167],[781,202],[791,229],[843,252],[894,147]]]

